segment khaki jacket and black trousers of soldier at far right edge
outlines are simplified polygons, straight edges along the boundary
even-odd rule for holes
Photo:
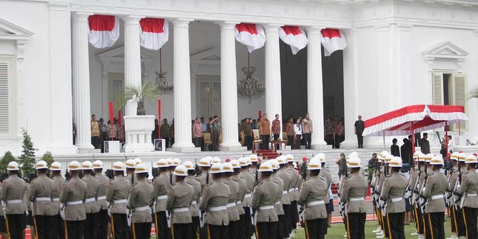
[[[462,187],[458,193],[464,197],[462,214],[467,238],[478,238],[477,213],[478,213],[478,173],[474,170],[463,173]]]

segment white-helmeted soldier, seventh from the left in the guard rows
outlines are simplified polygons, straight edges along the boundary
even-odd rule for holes
[[[113,163],[115,179],[108,183],[106,200],[110,203],[111,230],[113,239],[128,238],[128,215],[126,203],[131,183],[124,178],[124,165],[121,162]]]

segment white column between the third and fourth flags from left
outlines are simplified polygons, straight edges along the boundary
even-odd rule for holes
[[[269,120],[275,119],[275,114],[282,115],[282,90],[280,87],[280,48],[279,27],[282,25],[269,24],[265,26],[265,112]],[[280,137],[282,137],[282,124]]]

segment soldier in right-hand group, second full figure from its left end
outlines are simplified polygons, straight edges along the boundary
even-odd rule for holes
[[[400,173],[402,158],[393,157],[388,164],[390,176],[385,178],[380,200],[385,209],[389,238],[405,239],[405,188],[407,178]]]

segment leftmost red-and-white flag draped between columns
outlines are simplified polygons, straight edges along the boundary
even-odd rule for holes
[[[91,15],[88,16],[88,24],[88,41],[96,48],[113,46],[119,38],[118,16]]]

